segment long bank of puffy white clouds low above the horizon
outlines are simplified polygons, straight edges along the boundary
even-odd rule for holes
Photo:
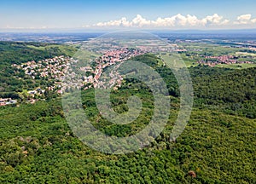
[[[171,17],[157,18],[156,20],[147,20],[142,15],[137,14],[133,20],[127,20],[123,17],[119,20],[110,20],[98,22],[92,26],[85,27],[126,27],[126,28],[207,28],[207,27],[224,27],[237,25],[253,25],[256,19],[251,14],[241,14],[235,21],[225,19],[219,14],[207,15],[199,19],[195,15],[176,14]]]

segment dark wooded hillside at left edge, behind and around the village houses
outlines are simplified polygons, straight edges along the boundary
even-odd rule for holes
[[[59,55],[72,57],[76,50],[75,47],[52,43],[0,42],[0,97],[16,99],[19,98],[18,91],[40,84],[40,81],[33,81],[24,72],[17,71],[13,64],[20,65],[27,61],[44,60]]]

